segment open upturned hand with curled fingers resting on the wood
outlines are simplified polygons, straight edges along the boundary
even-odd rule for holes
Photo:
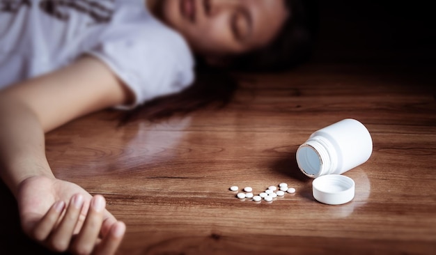
[[[17,201],[24,232],[55,252],[114,254],[125,233],[103,196],[93,197],[74,183],[27,178]]]

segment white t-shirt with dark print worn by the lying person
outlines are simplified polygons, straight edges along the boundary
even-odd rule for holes
[[[192,83],[185,40],[144,0],[0,1],[0,89],[59,69],[83,54],[104,63],[136,95],[133,107]]]

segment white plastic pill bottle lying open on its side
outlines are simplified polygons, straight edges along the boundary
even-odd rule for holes
[[[366,127],[352,118],[324,127],[297,149],[299,169],[311,178],[341,174],[368,160],[373,140]]]

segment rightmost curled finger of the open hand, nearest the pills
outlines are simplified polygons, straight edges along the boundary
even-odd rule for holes
[[[125,224],[123,222],[115,222],[106,236],[104,236],[100,245],[95,249],[94,255],[111,255],[115,254],[120,246],[125,233]]]

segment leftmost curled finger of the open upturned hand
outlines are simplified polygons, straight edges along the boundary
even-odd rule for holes
[[[42,242],[47,239],[49,234],[54,229],[56,222],[58,222],[59,217],[61,217],[64,208],[64,201],[56,201],[56,203],[53,204],[53,206],[33,229],[32,235],[35,240]]]

